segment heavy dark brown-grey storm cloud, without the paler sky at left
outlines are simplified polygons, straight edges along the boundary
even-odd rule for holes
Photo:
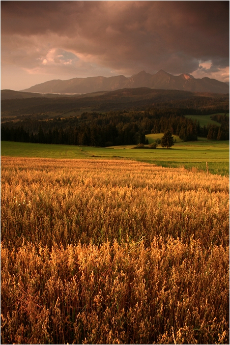
[[[21,51],[37,36],[41,51],[50,42],[126,74],[192,73],[200,60],[229,65],[228,8],[229,1],[1,1],[1,33],[20,35]]]

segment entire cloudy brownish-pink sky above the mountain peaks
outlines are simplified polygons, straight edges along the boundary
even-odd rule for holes
[[[160,69],[229,82],[229,1],[0,1],[1,89]]]

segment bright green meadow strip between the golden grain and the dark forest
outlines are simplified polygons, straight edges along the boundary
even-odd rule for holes
[[[147,137],[152,135],[147,135]],[[154,134],[154,136],[156,136]],[[160,134],[158,134],[160,137]],[[229,141],[176,142],[170,149],[132,149],[133,145],[106,147],[1,142],[1,156],[57,159],[129,159],[157,166],[229,174]]]

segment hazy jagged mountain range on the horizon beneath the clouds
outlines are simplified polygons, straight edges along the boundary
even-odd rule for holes
[[[183,90],[192,92],[229,93],[229,85],[216,79],[196,79],[190,74],[174,76],[163,70],[156,74],[142,71],[131,77],[123,75],[115,77],[87,77],[69,80],[51,80],[21,90],[40,93],[90,93],[97,91],[113,91],[122,88],[150,87],[164,90]]]

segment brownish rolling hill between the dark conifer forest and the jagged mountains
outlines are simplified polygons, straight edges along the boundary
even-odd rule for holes
[[[5,97],[7,90],[2,90]],[[11,90],[12,91],[12,90]],[[17,91],[13,91],[17,92]],[[207,109],[208,113],[228,112],[229,96],[219,93],[189,92],[180,90],[157,90],[147,87],[125,88],[115,91],[95,92],[83,95],[52,95],[52,97],[25,92],[28,98],[1,99],[1,119],[8,116],[35,115],[41,113],[56,113],[58,116],[75,116],[78,112],[136,109],[144,110],[146,107]],[[11,92],[8,92],[12,95]],[[24,93],[21,96],[25,96]],[[57,97],[58,96],[58,97]],[[211,114],[210,113],[210,114]],[[194,114],[194,113],[192,113]],[[53,115],[49,115],[54,116]]]

